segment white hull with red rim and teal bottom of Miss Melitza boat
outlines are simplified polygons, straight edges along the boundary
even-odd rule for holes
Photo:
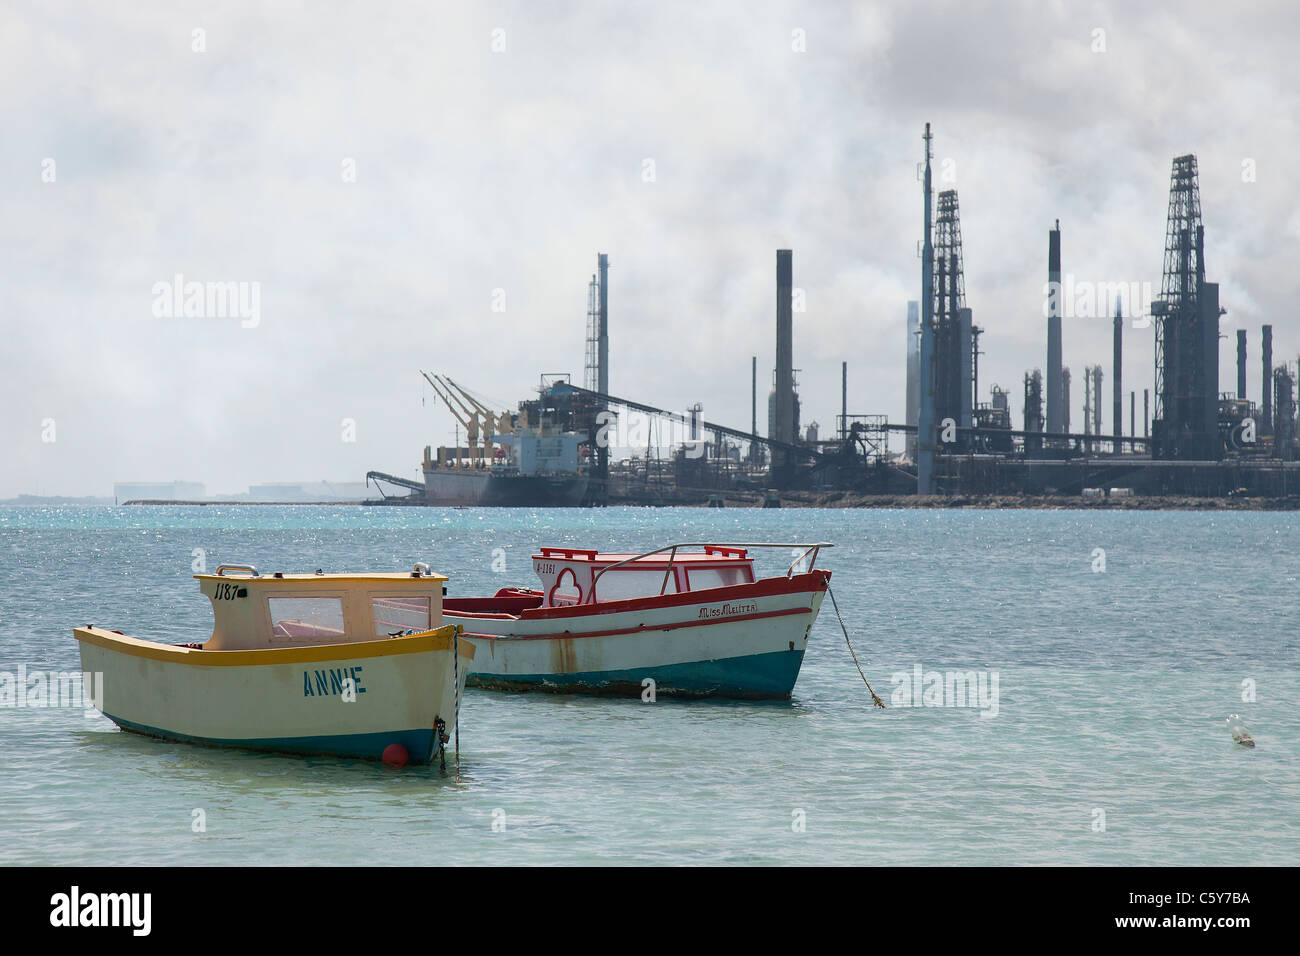
[[[788,700],[828,580],[812,571],[533,614],[443,613],[476,645],[471,687]]]

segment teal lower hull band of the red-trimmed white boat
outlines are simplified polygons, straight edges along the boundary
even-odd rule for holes
[[[786,700],[803,663],[802,650],[725,657],[718,661],[659,665],[620,671],[581,674],[484,674],[471,671],[471,687],[495,691],[550,691],[641,696],[641,682],[653,678],[655,695],[670,697],[731,697]]]

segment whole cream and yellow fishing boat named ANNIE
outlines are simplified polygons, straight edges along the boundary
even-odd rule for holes
[[[443,624],[447,580],[393,574],[195,575],[204,644],[75,628],[100,706],[133,734],[283,753],[426,763],[459,717],[474,646]]]

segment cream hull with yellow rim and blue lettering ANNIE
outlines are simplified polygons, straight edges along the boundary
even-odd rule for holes
[[[473,645],[452,632],[448,626],[387,640],[259,650],[183,648],[101,628],[75,633],[82,670],[101,675],[100,709],[124,731],[367,760],[400,744],[410,762],[425,763],[441,748],[438,718],[448,728],[456,719],[456,692],[473,659]]]

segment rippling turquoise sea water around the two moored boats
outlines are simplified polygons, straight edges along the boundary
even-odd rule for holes
[[[1294,865],[1294,528],[1288,514],[0,509],[0,674],[77,669],[84,623],[204,639],[195,549],[209,568],[428,561],[474,594],[532,584],[542,544],[827,540],[818,563],[878,693],[918,665],[998,679],[996,715],[872,710],[827,602],[789,704],[471,689],[459,783],[0,709],[0,862]],[[1230,713],[1254,750],[1232,744]]]

